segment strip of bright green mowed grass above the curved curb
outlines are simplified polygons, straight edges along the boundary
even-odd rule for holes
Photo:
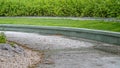
[[[88,28],[120,32],[120,22],[100,20],[71,20],[71,19],[46,19],[46,18],[0,18],[0,24],[19,24],[36,26],[61,26]]]

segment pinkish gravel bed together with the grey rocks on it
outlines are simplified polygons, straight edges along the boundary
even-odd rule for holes
[[[0,68],[28,68],[40,63],[42,53],[15,44],[0,44]]]

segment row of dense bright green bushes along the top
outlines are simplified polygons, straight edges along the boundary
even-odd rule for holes
[[[120,0],[0,0],[0,16],[120,18]]]

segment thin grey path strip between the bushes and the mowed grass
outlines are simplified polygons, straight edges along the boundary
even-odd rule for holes
[[[0,18],[43,18],[43,19],[71,19],[71,20],[103,20],[103,21],[115,21],[120,22],[120,19],[116,18],[101,18],[101,17],[0,17]]]

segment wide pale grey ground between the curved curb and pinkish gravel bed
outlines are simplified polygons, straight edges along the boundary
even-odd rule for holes
[[[120,49],[116,45],[59,35],[20,32],[5,32],[5,34],[10,41],[44,51],[44,61],[36,68],[120,68],[118,53],[95,48],[96,46],[115,46],[116,49]]]

